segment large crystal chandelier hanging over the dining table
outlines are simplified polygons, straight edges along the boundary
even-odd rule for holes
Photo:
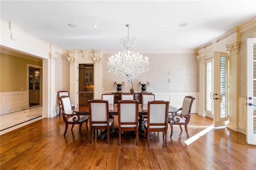
[[[149,62],[148,57],[142,59],[142,55],[135,52],[136,39],[129,37],[130,25],[127,24],[126,27],[128,27],[128,36],[120,39],[122,51],[109,58],[108,72],[116,73],[126,81],[131,81],[137,75],[149,70]]]

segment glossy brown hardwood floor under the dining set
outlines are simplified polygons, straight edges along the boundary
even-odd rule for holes
[[[212,120],[192,114],[188,131],[190,139],[212,125]],[[115,117],[117,126],[117,117]],[[118,134],[110,136],[110,143],[95,137],[90,144],[90,130],[79,126],[68,128],[61,116],[41,119],[0,136],[0,169],[186,169],[252,170],[256,167],[256,145],[246,144],[246,135],[228,128],[213,128],[187,145],[185,130],[174,126],[168,148],[162,132],[153,132],[150,147],[143,134],[136,136],[124,132],[121,146]],[[183,127],[184,129],[184,127]]]

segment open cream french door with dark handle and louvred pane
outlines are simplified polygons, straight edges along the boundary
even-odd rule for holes
[[[228,53],[214,52],[213,100],[214,127],[228,123]]]

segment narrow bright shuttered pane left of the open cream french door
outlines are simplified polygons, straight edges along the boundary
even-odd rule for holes
[[[208,62],[206,63],[206,110],[212,112],[211,94],[212,94],[212,62]]]

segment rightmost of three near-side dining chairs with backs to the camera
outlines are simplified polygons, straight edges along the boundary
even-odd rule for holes
[[[150,146],[149,132],[163,132],[165,146],[168,147],[168,109],[169,101],[149,101],[148,102],[148,120],[144,122],[144,137],[147,134],[148,146]]]

